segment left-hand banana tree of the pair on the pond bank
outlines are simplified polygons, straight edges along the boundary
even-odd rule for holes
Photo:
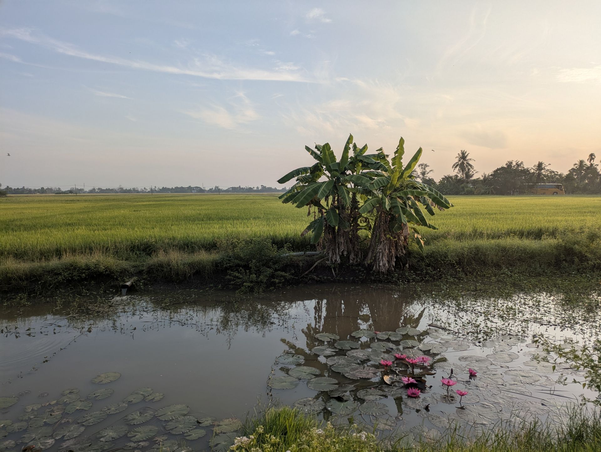
[[[348,256],[350,264],[361,261],[359,247],[359,202],[353,192],[352,176],[363,169],[377,165],[371,156],[365,156],[367,144],[358,147],[349,135],[338,160],[329,143],[316,144],[315,149],[305,146],[316,160],[310,167],[292,170],[278,180],[279,184],[296,178],[296,183],[279,198],[297,208],[308,206],[311,221],[302,235],[311,233],[311,243],[317,244],[328,256],[328,262],[338,264]],[[351,152],[352,149],[352,152]]]

